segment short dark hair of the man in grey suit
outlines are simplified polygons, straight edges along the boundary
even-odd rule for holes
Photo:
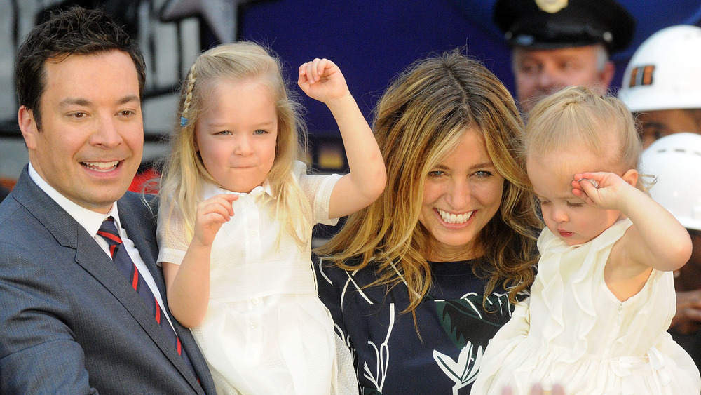
[[[124,30],[100,10],[74,6],[52,13],[32,29],[22,42],[15,60],[15,89],[20,106],[34,113],[37,128],[41,115],[39,102],[46,88],[46,61],[60,62],[69,55],[93,55],[107,51],[128,53],[139,78],[139,97],[144,93],[146,66],[144,57]]]

